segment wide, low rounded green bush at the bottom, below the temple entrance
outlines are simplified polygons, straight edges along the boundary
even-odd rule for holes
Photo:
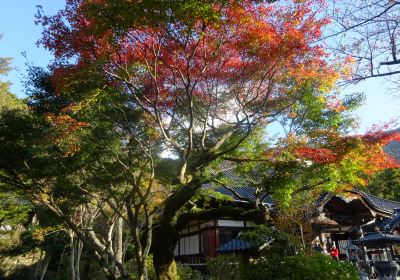
[[[229,279],[229,278],[226,278]],[[271,255],[245,267],[246,280],[358,280],[357,269],[349,262],[337,262],[330,257]]]

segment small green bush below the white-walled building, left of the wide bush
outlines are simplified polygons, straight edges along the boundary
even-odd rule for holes
[[[240,259],[236,255],[221,255],[207,260],[207,271],[210,280],[239,280]],[[268,278],[265,278],[268,279]]]

